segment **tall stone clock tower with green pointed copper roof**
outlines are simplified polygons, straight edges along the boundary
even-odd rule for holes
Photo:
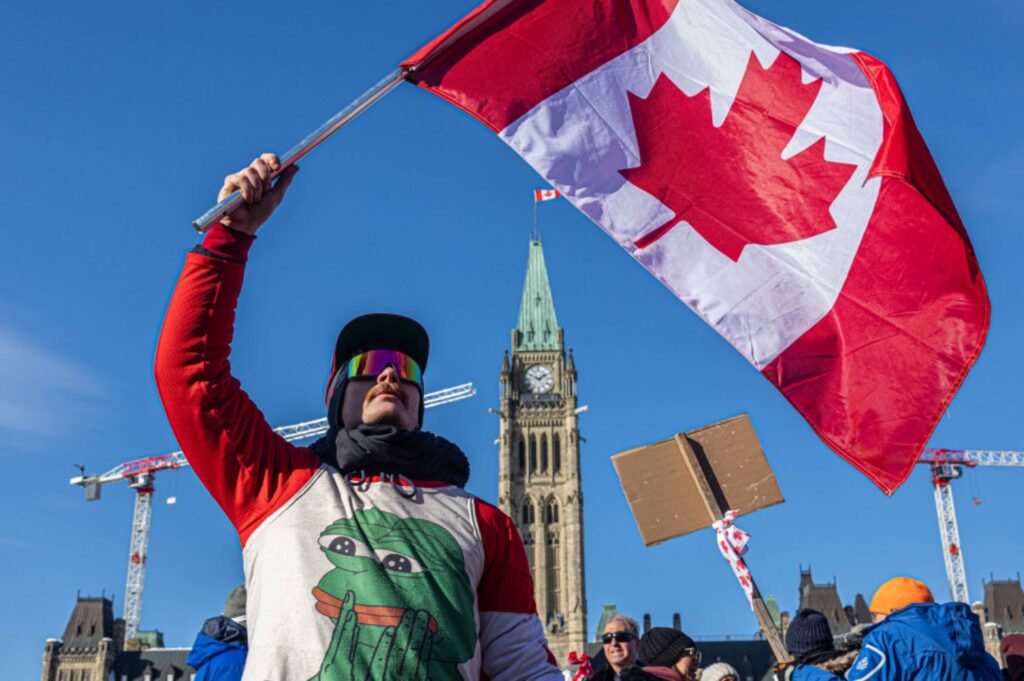
[[[565,352],[539,238],[501,372],[499,506],[526,547],[537,610],[559,666],[587,640],[577,372]]]

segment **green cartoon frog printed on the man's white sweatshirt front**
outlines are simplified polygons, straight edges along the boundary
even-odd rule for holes
[[[319,536],[332,569],[313,588],[335,625],[315,681],[460,679],[476,648],[462,549],[435,522],[375,508]]]

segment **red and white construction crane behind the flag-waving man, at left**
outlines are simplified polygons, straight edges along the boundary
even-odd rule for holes
[[[423,396],[424,407],[440,407],[476,394],[472,383],[464,383],[444,390],[428,392]],[[328,430],[327,419],[274,428],[274,432],[295,441],[323,435]],[[150,522],[153,515],[153,491],[156,474],[162,470],[177,470],[188,466],[181,452],[144,457],[118,464],[101,475],[76,475],[72,484],[85,487],[85,501],[99,499],[100,485],[127,480],[135,491],[135,511],[131,521],[131,543],[128,549],[128,580],[125,583],[125,638],[134,638],[142,618],[142,590],[145,583],[146,547],[150,544]]]

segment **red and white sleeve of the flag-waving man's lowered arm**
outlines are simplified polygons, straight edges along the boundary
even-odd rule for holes
[[[476,588],[483,674],[490,681],[561,681],[537,616],[534,581],[519,533],[507,515],[479,499],[476,521],[484,554]]]

